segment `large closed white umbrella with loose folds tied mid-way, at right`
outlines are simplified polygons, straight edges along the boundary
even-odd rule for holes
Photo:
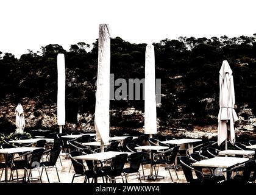
[[[227,140],[235,143],[234,122],[238,121],[234,110],[235,90],[232,73],[229,63],[224,60],[219,71],[218,145],[225,141],[226,149]]]

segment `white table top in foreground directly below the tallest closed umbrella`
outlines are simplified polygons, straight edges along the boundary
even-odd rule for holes
[[[116,155],[119,154],[132,154],[132,152],[114,152],[114,151],[108,151],[108,152],[99,152],[95,154],[85,154],[74,157],[77,160],[107,160],[108,158],[113,158]]]

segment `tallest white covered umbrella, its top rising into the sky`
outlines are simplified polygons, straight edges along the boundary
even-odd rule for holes
[[[108,24],[99,24],[98,77],[95,118],[96,140],[101,141],[101,151],[109,141],[110,131],[110,33]]]

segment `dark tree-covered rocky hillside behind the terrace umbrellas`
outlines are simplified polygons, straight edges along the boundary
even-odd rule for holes
[[[111,40],[111,73],[115,79],[143,79],[146,44]],[[255,135],[255,37],[162,40],[155,46],[155,74],[161,79],[157,105],[160,135],[216,137],[219,110],[219,69],[228,60],[235,82],[237,137]],[[57,54],[66,62],[66,130],[94,130],[98,41],[71,45],[70,51],[49,44],[41,54],[29,51],[16,59],[0,55],[0,129],[15,130],[15,107],[21,103],[26,129],[57,130]],[[1,53],[0,53],[1,54]],[[115,86],[118,88],[119,86]],[[142,91],[141,91],[142,94]],[[127,97],[127,99],[129,99]],[[143,132],[144,101],[110,101],[113,130]],[[80,117],[77,119],[77,113]]]

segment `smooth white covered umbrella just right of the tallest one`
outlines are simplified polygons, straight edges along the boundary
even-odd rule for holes
[[[157,133],[157,103],[155,100],[155,53],[154,46],[146,46],[145,56],[145,104],[144,133]]]

